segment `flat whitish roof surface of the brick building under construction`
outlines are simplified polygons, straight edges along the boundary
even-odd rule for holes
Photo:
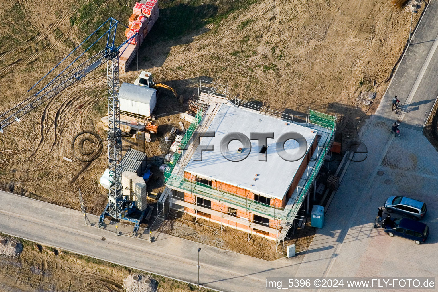
[[[317,136],[317,131],[314,129],[226,104],[221,105],[208,131],[215,132],[215,137],[202,137],[200,144],[213,145],[213,151],[202,151],[202,161],[194,161],[200,158],[200,147],[198,147],[185,171],[204,179],[218,180],[250,190],[255,194],[278,199],[283,199],[289,190],[304,158],[295,162],[283,160],[276,152],[277,139],[284,133],[297,132],[306,139],[308,152]],[[250,151],[244,160],[233,162],[226,159],[219,145],[223,137],[231,132],[245,134],[248,138],[251,137],[251,132],[274,132],[274,138],[268,138],[266,143],[268,145],[265,154],[267,161],[258,161],[260,150],[258,140],[251,140],[251,151],[245,148],[242,150],[242,154]],[[228,146],[230,154],[237,154],[238,148],[243,147],[242,143],[237,140],[231,141]],[[284,144],[284,148],[288,153],[293,154],[294,151],[297,152],[298,143],[289,140]]]

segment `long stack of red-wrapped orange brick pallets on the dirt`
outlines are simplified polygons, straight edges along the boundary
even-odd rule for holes
[[[129,42],[120,49],[119,68],[121,72],[125,72],[134,59],[138,47],[151,31],[158,16],[157,0],[141,0],[134,5],[133,14],[129,18],[129,26],[125,31],[126,39]]]

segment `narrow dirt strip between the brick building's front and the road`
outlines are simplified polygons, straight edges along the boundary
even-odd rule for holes
[[[263,260],[276,260],[285,257],[286,246],[293,243],[297,246],[297,252],[307,250],[316,228],[308,223],[304,229],[297,229],[284,242],[283,248],[283,243],[276,246],[275,241],[257,235],[248,238],[248,233],[230,227],[224,227],[221,231],[219,224],[204,218],[198,218],[194,224],[193,216],[175,211],[161,224],[159,231]]]

